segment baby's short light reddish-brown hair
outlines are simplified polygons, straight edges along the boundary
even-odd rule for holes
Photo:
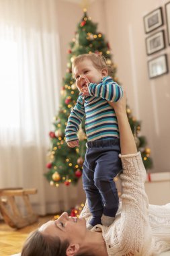
[[[96,69],[98,70],[108,69],[108,75],[110,76],[113,75],[112,67],[106,63],[105,57],[103,57],[103,55],[100,55],[99,53],[87,53],[87,54],[77,56],[72,63],[72,72],[75,66],[77,66],[84,59],[91,60],[91,62],[93,63]],[[74,75],[74,72],[73,72],[73,75]]]

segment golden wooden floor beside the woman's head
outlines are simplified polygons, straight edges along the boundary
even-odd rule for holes
[[[52,220],[54,215],[40,217],[38,222],[32,224],[31,226],[27,226],[25,228],[21,228],[19,230],[15,230],[10,228],[3,220],[0,221],[0,255],[1,256],[10,256],[15,253],[19,253],[22,249],[22,245],[26,240],[28,234],[36,229],[38,226],[43,224],[48,220]]]

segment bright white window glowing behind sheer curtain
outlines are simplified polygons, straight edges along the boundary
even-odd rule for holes
[[[17,43],[0,40],[0,127],[19,128]]]

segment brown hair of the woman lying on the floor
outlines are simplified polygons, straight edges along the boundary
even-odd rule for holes
[[[28,236],[21,256],[66,256],[69,241],[61,241],[58,236],[42,234],[35,230]],[[95,256],[93,253],[77,253],[76,256]]]

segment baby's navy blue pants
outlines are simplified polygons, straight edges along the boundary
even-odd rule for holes
[[[83,164],[83,188],[93,217],[114,217],[119,198],[114,177],[122,170],[120,140],[88,141]]]

